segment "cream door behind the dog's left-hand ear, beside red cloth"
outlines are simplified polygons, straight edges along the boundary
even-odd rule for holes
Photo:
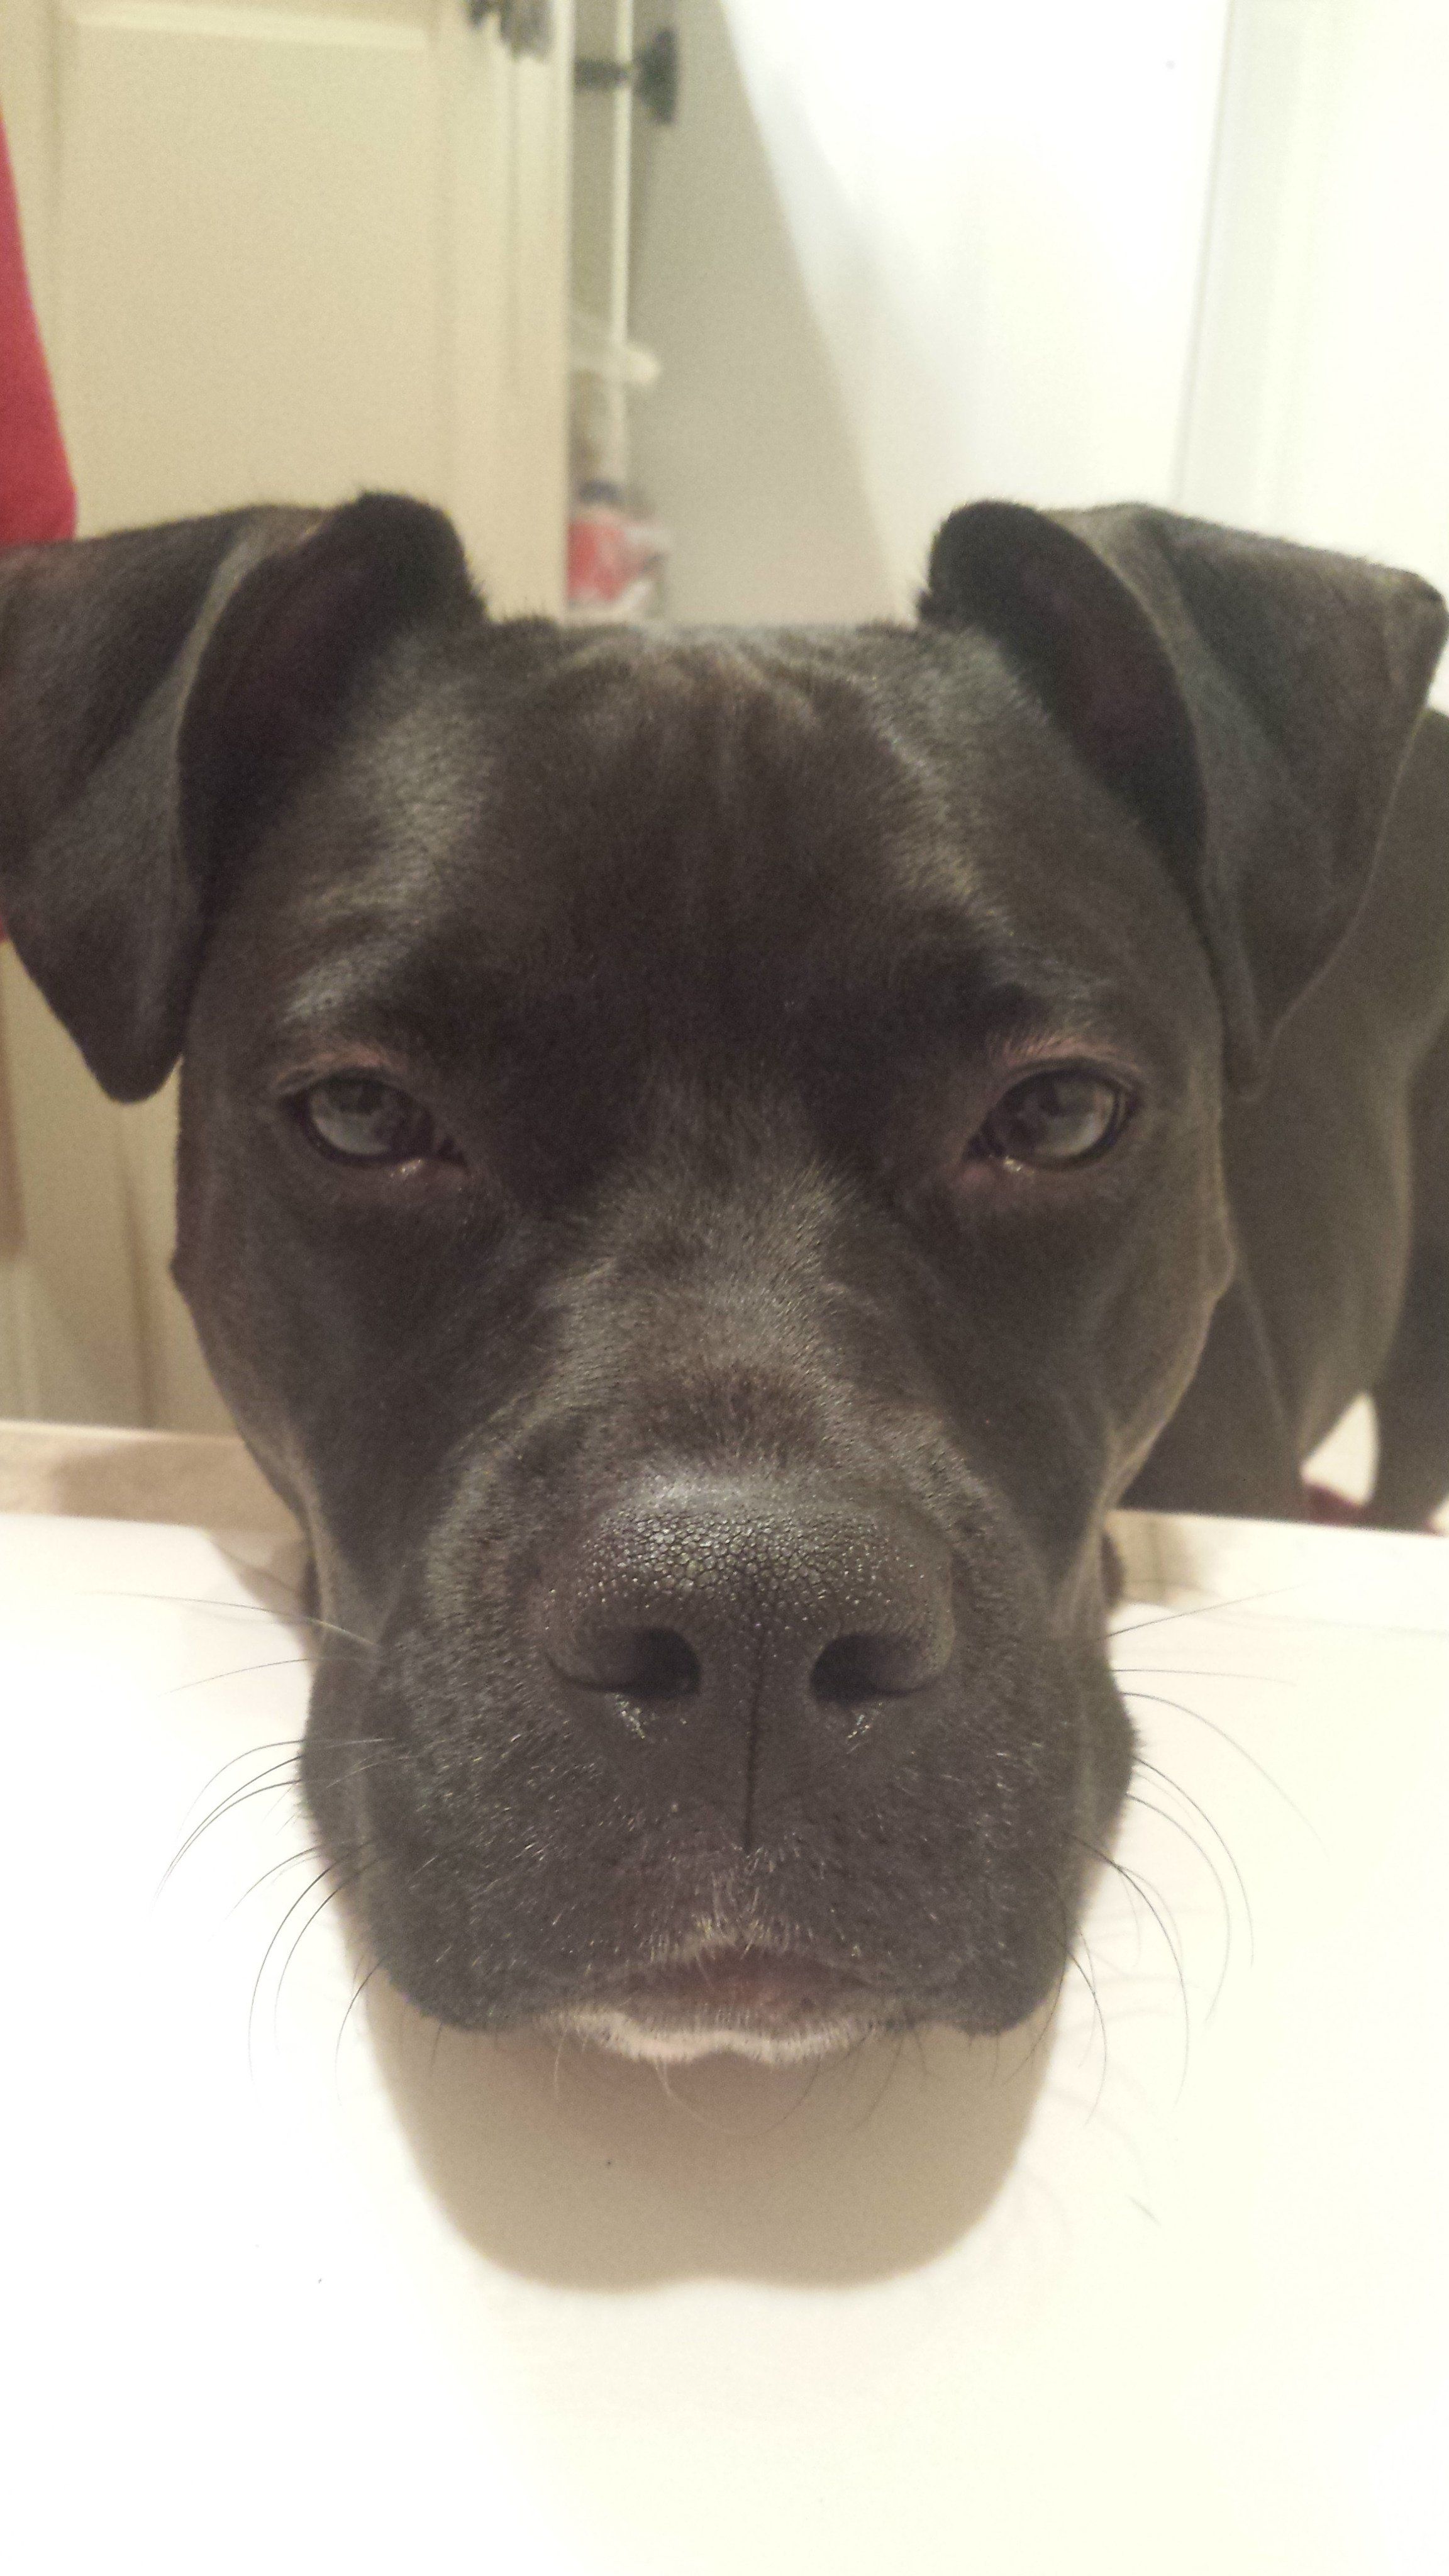
[[[83,531],[405,489],[498,608],[562,605],[572,13],[547,54],[505,41],[526,15],[3,0]],[[0,1409],[219,1425],[168,1280],[170,1090],[103,1103],[13,958],[0,1007]]]

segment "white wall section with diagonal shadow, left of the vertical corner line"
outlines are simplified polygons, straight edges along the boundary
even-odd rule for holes
[[[980,492],[1173,492],[1225,0],[683,0],[634,327],[673,611],[900,608]]]

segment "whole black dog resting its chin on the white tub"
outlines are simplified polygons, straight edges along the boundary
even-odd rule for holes
[[[1106,1510],[1297,1512],[1366,1386],[1382,1517],[1449,1486],[1444,623],[1160,510],[962,510],[838,634],[495,626],[382,497],[8,559],[0,909],[116,1097],[183,1054],[428,2012],[1018,2022],[1132,1765]]]

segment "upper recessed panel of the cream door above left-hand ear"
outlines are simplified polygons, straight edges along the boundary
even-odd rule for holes
[[[88,526],[443,497],[438,57],[413,13],[75,10],[57,368]]]

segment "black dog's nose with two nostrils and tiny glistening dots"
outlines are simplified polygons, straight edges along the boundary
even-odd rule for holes
[[[944,1540],[897,1504],[763,1481],[619,1502],[547,1602],[547,1654],[572,1690],[611,1695],[634,1726],[665,1708],[735,1721],[727,1734],[779,1752],[828,1713],[926,1690],[951,1646]],[[719,1757],[694,1744],[696,1765]]]

